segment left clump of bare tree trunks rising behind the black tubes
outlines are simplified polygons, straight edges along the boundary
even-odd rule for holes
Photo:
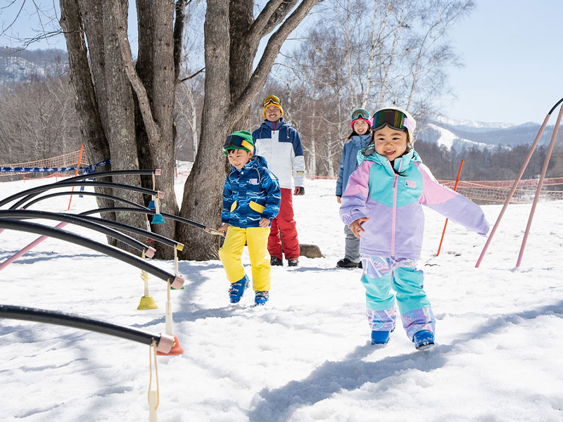
[[[178,3],[179,8],[185,6],[185,0]],[[172,27],[174,6],[172,0],[137,1],[139,72],[134,68],[127,41],[127,0],[61,0],[61,26],[72,57],[70,74],[89,160],[110,158],[112,170],[162,169],[163,175],[156,178],[155,187],[165,192],[165,210],[177,214],[172,129],[177,47]],[[100,151],[98,157],[96,151]],[[113,180],[141,184],[141,178],[133,175]],[[153,187],[152,179],[145,179],[144,184]],[[137,203],[151,199],[125,190],[113,194]],[[115,218],[146,226],[146,217],[141,214],[127,213]],[[175,224],[168,222],[153,229],[172,237]],[[160,248],[157,256],[170,258],[172,250]]]

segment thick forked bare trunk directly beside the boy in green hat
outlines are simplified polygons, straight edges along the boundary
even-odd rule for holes
[[[210,226],[220,224],[226,170],[220,148],[222,141],[232,129],[247,128],[248,108],[264,86],[281,44],[318,1],[301,1],[284,20],[298,1],[270,0],[254,21],[253,1],[208,1],[204,30],[205,101],[201,141],[194,167],[184,186],[182,217]],[[251,74],[260,39],[279,23],[281,25],[270,37],[260,63]],[[231,25],[234,26],[232,30],[229,29]],[[234,70],[231,71],[229,66]],[[184,259],[209,260],[217,257],[217,238],[201,229],[178,226],[177,238],[190,240],[189,247],[184,248],[181,254]]]

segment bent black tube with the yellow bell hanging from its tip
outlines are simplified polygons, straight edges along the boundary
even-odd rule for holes
[[[15,218],[15,219],[26,219],[26,218],[42,218],[50,219],[58,222],[67,222],[70,224],[76,224],[77,226],[86,227],[87,229],[92,229],[99,231],[100,233],[106,234],[107,236],[113,237],[118,241],[122,241],[127,245],[135,248],[137,250],[147,250],[148,246],[142,242],[137,241],[137,239],[122,234],[117,230],[110,229],[103,224],[98,224],[95,222],[90,222],[75,215],[63,214],[62,212],[48,212],[48,211],[34,211],[34,210],[0,210],[0,218]]]

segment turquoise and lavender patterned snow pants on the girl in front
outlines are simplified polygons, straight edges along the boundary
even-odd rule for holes
[[[372,331],[395,328],[397,302],[403,328],[410,340],[418,331],[434,333],[436,319],[424,292],[424,273],[417,270],[416,260],[362,255],[362,266],[366,315]]]

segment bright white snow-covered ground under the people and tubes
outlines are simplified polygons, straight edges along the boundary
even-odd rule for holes
[[[0,198],[37,183],[2,183]],[[68,198],[37,205],[63,211]],[[538,205],[519,269],[529,205],[508,207],[479,269],[485,238],[450,222],[436,257],[444,218],[426,210],[419,267],[437,319],[426,352],[400,325],[388,345],[369,344],[361,270],[334,267],[344,245],[334,181],[308,181],[294,205],[301,243],[325,257],[273,268],[265,307],[249,293],[230,305],[219,261],[179,262],[184,354],[158,357],[159,421],[563,421],[562,202]],[[94,207],[72,199],[72,212]],[[501,207],[484,207],[491,226]],[[0,262],[35,237],[1,233]],[[165,283],[151,276],[149,311],[137,311],[142,286],[139,269],[48,239],[0,271],[0,303],[164,332]],[[148,358],[139,343],[0,319],[1,421],[146,421]]]

